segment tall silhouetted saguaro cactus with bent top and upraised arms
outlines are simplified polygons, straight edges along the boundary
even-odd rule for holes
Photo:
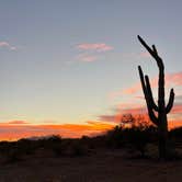
[[[138,39],[141,45],[149,52],[149,54],[155,58],[157,66],[159,68],[159,80],[158,80],[158,103],[155,103],[151,87],[149,82],[149,77],[146,75],[144,77],[141,67],[138,66],[140,82],[148,109],[148,115],[151,122],[157,126],[159,134],[159,158],[167,158],[167,140],[168,140],[168,118],[167,114],[171,111],[174,101],[174,91],[171,89],[168,104],[166,105],[164,100],[164,65],[162,59],[159,57],[157,48],[155,45],[149,47],[145,41],[138,35]]]

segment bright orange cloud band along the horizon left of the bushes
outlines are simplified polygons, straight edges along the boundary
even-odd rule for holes
[[[19,124],[18,124],[19,123]],[[81,137],[96,135],[112,128],[114,125],[103,122],[89,121],[86,124],[62,125],[24,125],[22,122],[0,124],[0,140],[16,140],[33,136],[60,135],[62,137]],[[27,122],[26,122],[27,123]]]

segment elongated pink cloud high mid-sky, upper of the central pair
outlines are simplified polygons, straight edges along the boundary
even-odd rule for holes
[[[109,46],[104,43],[95,43],[95,44],[79,44],[77,48],[82,50],[95,50],[95,52],[109,52],[112,50],[114,47]]]

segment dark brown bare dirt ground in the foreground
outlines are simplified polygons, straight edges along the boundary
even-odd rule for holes
[[[181,182],[182,161],[128,159],[121,151],[75,158],[27,158],[0,164],[0,182]]]

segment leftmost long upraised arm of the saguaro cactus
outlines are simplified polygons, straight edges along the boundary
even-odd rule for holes
[[[146,99],[146,104],[147,104],[147,110],[148,110],[148,115],[151,120],[151,122],[158,126],[158,118],[156,117],[153,111],[152,111],[152,107],[150,105],[150,101],[149,101],[149,96],[148,96],[148,92],[147,92],[147,88],[146,88],[146,84],[145,84],[145,79],[144,79],[144,73],[143,73],[143,70],[141,70],[141,67],[138,66],[138,71],[139,71],[139,77],[140,77],[140,81],[141,81],[141,87],[143,87],[143,92],[144,92],[144,95],[145,95],[145,99]]]

